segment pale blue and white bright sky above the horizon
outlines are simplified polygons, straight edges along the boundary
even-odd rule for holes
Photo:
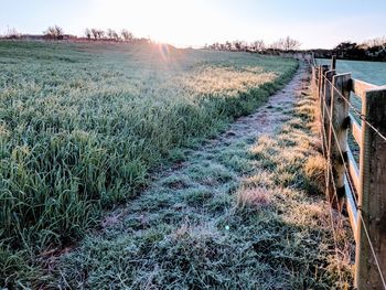
[[[385,21],[386,0],[0,0],[1,34],[41,34],[53,24],[76,35],[126,28],[176,46],[289,35],[302,49],[332,49],[386,36]]]

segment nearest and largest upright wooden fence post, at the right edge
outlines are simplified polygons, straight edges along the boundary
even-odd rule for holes
[[[366,92],[362,114],[382,135],[386,135],[386,88]],[[382,275],[386,272],[386,141],[365,121],[362,121],[361,149],[361,211],[357,222],[355,284],[358,290],[384,289]],[[383,273],[378,271],[367,234]]]

